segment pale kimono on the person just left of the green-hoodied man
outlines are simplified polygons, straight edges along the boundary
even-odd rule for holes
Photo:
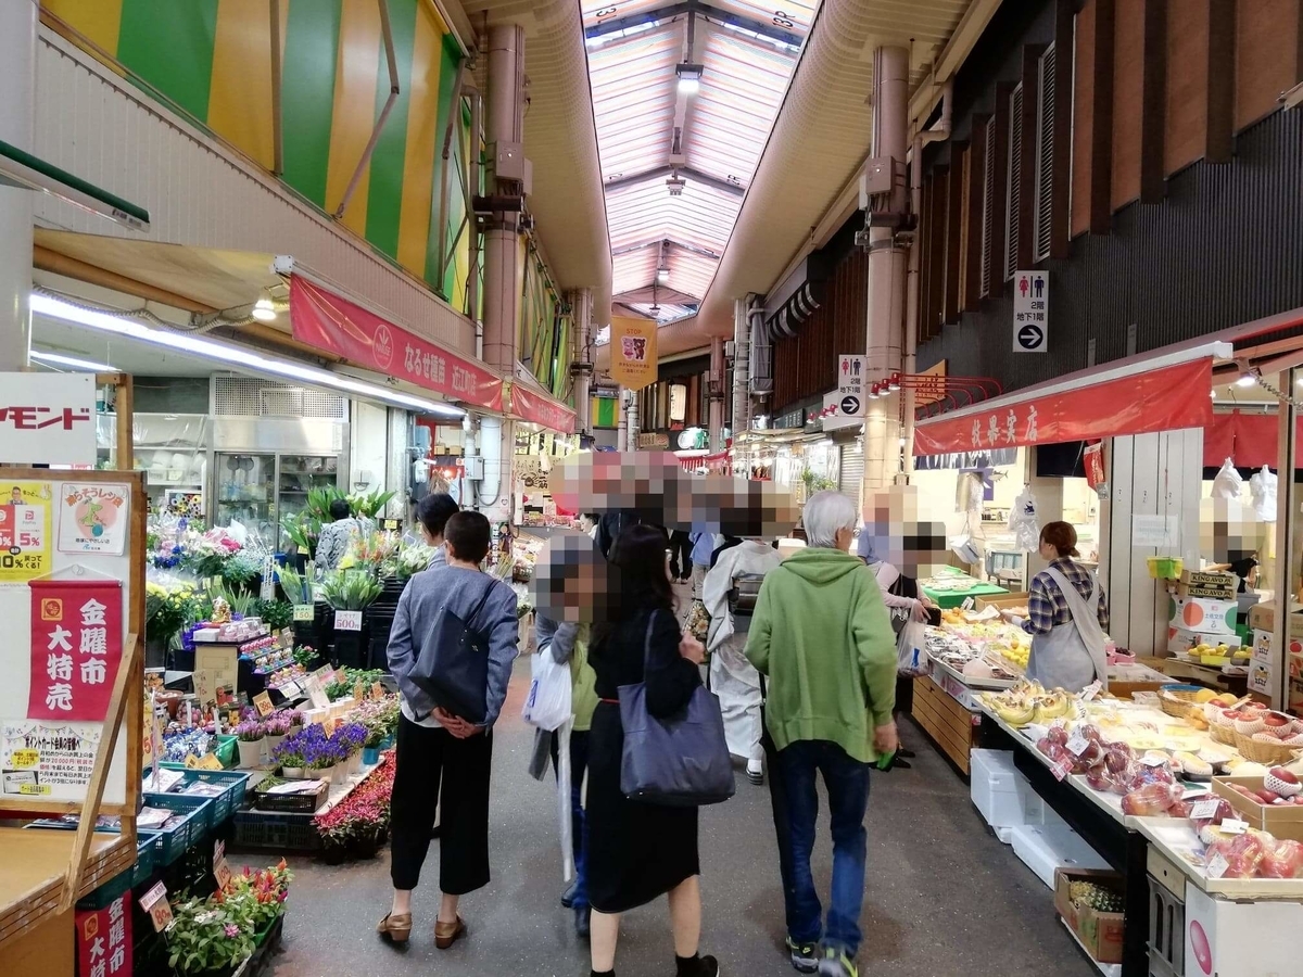
[[[701,591],[710,615],[710,690],[719,697],[728,752],[747,763],[747,779],[757,786],[765,782],[765,752],[760,745],[760,672],[747,660],[752,608],[741,608],[730,595],[741,598],[748,585],[754,593],[754,585],[782,561],[767,543],[748,539],[719,556]]]

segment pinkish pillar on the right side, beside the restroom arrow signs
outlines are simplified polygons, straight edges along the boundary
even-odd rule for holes
[[[894,159],[904,173],[909,51],[881,47],[873,52],[873,158]],[[904,212],[903,177],[890,210]],[[865,353],[868,379],[882,380],[903,367],[906,249],[891,228],[869,231],[869,317]],[[869,400],[864,419],[864,486],[890,485],[900,473],[900,395]]]

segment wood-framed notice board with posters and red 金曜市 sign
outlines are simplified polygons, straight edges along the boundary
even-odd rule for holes
[[[0,810],[134,817],[143,541],[139,473],[0,466]]]

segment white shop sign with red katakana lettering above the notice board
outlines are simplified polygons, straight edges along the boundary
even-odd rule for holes
[[[93,465],[91,374],[0,374],[0,464]]]

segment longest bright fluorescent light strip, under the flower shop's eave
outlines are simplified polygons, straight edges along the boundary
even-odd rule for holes
[[[133,322],[132,319],[122,319],[107,313],[81,309],[51,296],[39,293],[33,294],[31,311],[39,315],[48,315],[52,319],[60,319],[77,326],[86,326],[93,330],[102,330],[103,332],[128,336],[130,339],[141,340],[142,343],[151,343],[156,347],[175,349],[176,352],[186,356],[205,357],[208,360],[216,360],[218,362],[231,363],[240,370],[271,374],[272,376],[284,376],[291,380],[298,380],[317,387],[328,387],[331,389],[340,391],[341,393],[352,393],[358,397],[382,400],[387,404],[395,404],[418,413],[443,414],[444,417],[463,417],[466,413],[461,408],[452,406],[451,404],[440,404],[434,400],[426,400],[425,397],[414,397],[396,389],[379,387],[374,383],[365,383],[362,380],[354,380],[340,374],[330,373],[328,370],[318,370],[314,366],[305,366],[289,360],[266,356],[244,347],[214,343],[211,339],[203,336],[167,332],[164,330],[151,330],[138,322]]]

